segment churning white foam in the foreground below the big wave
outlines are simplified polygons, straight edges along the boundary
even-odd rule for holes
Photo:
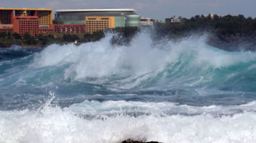
[[[255,109],[256,102],[233,109]],[[79,108],[82,107],[82,108]],[[155,113],[138,117],[113,113],[124,108],[154,109]],[[159,115],[166,108],[202,110],[200,115]],[[231,107],[227,107],[231,108]],[[159,141],[163,143],[255,143],[256,114],[244,111],[214,117],[212,110],[226,107],[176,106],[171,103],[125,101],[84,102],[60,109],[46,105],[42,110],[0,111],[0,143],[120,143],[122,140]],[[152,111],[152,110],[151,110]],[[209,111],[209,112],[207,112]],[[102,115],[103,118],[79,117],[78,113]],[[104,113],[104,114],[101,114]]]

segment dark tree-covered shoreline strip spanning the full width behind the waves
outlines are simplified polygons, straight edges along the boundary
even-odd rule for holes
[[[38,37],[25,33],[20,36],[17,33],[0,33],[0,47],[19,45],[24,48],[44,48],[50,44],[69,44],[77,41],[77,44],[98,41],[105,37],[105,33],[116,33],[111,39],[113,45],[129,44],[135,34],[143,28],[149,29],[152,38],[159,41],[163,38],[179,41],[190,36],[208,35],[206,44],[226,51],[243,50],[256,51],[256,18],[245,18],[243,15],[220,17],[195,16],[190,19],[175,17],[166,18],[165,22],[155,22],[153,27],[123,27],[106,29],[90,33],[49,33],[46,36],[39,34]]]

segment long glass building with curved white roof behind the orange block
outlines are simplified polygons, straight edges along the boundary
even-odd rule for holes
[[[116,27],[140,26],[140,16],[134,9],[68,9],[55,11],[55,20],[63,24],[86,24],[86,17],[114,17]]]

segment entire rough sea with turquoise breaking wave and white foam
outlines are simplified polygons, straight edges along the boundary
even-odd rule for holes
[[[205,37],[0,49],[0,143],[255,143],[256,53]]]

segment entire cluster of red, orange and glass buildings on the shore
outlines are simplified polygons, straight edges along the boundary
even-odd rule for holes
[[[31,36],[48,33],[93,33],[106,28],[138,27],[152,25],[150,18],[143,18],[134,9],[52,9],[0,8],[0,32],[29,33]]]

